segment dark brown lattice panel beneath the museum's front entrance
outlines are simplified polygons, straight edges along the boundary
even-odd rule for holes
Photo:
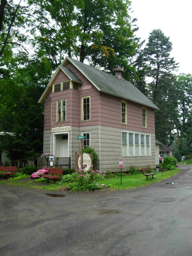
[[[37,168],[41,169],[46,166],[50,167],[49,161],[47,162],[46,159],[38,157],[37,158]],[[55,157],[53,166],[51,166],[51,168],[71,169],[71,158],[70,157]]]

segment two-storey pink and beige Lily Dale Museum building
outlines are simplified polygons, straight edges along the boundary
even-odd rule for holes
[[[77,135],[86,135],[84,147],[98,154],[100,170],[155,167],[155,118],[158,109],[133,84],[66,57],[39,99],[45,103],[44,153],[71,157],[80,151]]]

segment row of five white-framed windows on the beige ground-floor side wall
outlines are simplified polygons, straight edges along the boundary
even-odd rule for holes
[[[122,156],[151,156],[151,135],[122,131]]]

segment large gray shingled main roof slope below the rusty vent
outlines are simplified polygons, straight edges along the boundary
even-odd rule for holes
[[[89,65],[70,57],[67,58],[70,59],[70,61],[77,66],[100,91],[149,106],[153,109],[158,109],[158,107],[132,83],[126,80],[120,81],[117,77],[109,73],[90,67]]]

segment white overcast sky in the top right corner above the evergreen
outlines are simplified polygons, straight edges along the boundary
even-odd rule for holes
[[[180,62],[178,73],[192,74],[192,2],[191,0],[131,0],[133,18],[139,30],[136,36],[147,39],[153,29],[161,29],[172,42],[171,57]]]

